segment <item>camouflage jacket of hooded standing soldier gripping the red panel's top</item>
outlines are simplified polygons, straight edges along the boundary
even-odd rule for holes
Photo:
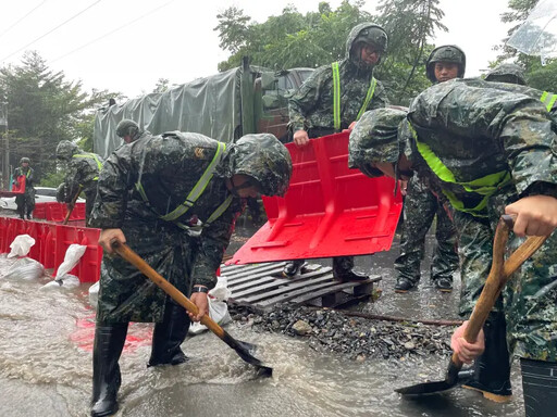
[[[362,70],[350,56],[350,50],[358,34],[369,25],[358,25],[346,41],[346,58],[339,61],[341,78],[341,128],[347,128],[356,121],[371,78],[373,68]],[[388,99],[383,85],[377,81],[373,98],[367,110],[384,108]],[[301,85],[288,102],[289,125],[293,132],[304,129],[333,129],[333,70],[331,65],[317,68]]]

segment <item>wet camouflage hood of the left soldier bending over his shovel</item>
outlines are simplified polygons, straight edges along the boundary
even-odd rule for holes
[[[284,195],[292,176],[288,150],[271,134],[246,135],[228,144],[218,174],[232,178],[236,174],[256,179],[263,195]]]

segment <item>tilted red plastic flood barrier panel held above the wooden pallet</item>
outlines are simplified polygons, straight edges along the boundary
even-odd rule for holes
[[[403,208],[392,178],[348,168],[348,131],[310,140],[290,152],[284,198],[263,198],[269,222],[228,262],[363,255],[388,251]]]

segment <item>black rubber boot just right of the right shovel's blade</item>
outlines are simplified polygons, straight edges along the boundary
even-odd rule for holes
[[[483,326],[485,351],[474,361],[474,376],[462,387],[479,391],[487,400],[506,403],[512,397],[510,359],[503,313],[491,313]]]

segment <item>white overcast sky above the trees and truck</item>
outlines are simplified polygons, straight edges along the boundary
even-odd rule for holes
[[[219,49],[216,14],[237,5],[256,22],[294,4],[306,13],[320,0],[4,0],[1,4],[0,65],[18,64],[36,50],[54,71],[90,90],[150,92],[159,78],[184,84],[218,72],[228,56]],[[331,0],[336,9],[339,0]],[[376,1],[364,10],[374,12]],[[495,58],[505,37],[500,14],[508,0],[441,0],[443,23],[435,45],[456,43],[467,54],[467,76]]]

